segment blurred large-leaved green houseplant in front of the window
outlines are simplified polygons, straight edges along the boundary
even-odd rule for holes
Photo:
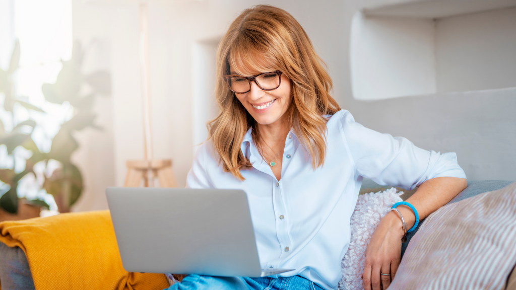
[[[83,74],[81,71],[84,59],[84,51],[79,42],[73,45],[72,58],[61,60],[62,69],[57,75],[54,84],[43,84],[42,92],[45,100],[50,103],[62,105],[68,102],[73,107],[71,119],[63,122],[57,134],[52,139],[50,151],[42,152],[36,146],[31,134],[38,126],[35,120],[25,120],[15,124],[10,132],[6,132],[4,123],[0,120],[0,145],[7,147],[7,154],[11,155],[15,148],[22,146],[31,152],[31,156],[25,160],[25,169],[16,172],[14,168],[0,169],[0,181],[5,185],[0,191],[0,208],[9,213],[17,213],[18,210],[18,183],[26,174],[35,174],[34,166],[44,163],[47,166],[49,160],[57,160],[60,168],[54,170],[51,176],[45,176],[44,183],[39,186],[52,194],[56,200],[60,212],[68,212],[83,191],[84,184],[79,168],[71,160],[72,154],[78,149],[79,144],[75,140],[74,132],[86,127],[101,129],[95,125],[96,114],[93,112],[94,99],[99,95],[109,95],[111,92],[111,79],[109,72],[105,70]],[[9,68],[0,69],[0,93],[4,94],[4,110],[13,116],[13,108],[16,104],[27,110],[44,111],[28,102],[20,100],[13,93],[13,74],[19,67],[20,44],[17,41],[11,56]],[[88,93],[84,93],[86,91]],[[89,90],[88,90],[89,89]],[[14,120],[14,117],[13,117]],[[34,201],[44,205],[42,201]]]

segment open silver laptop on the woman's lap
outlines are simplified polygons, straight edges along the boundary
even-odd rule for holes
[[[125,270],[265,277],[243,190],[108,187]]]

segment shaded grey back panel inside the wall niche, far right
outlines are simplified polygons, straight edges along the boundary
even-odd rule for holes
[[[437,90],[516,87],[516,7],[436,22]]]

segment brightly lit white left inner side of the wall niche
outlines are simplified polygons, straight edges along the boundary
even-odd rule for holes
[[[357,100],[436,92],[435,26],[431,19],[368,17],[351,26],[351,80]]]

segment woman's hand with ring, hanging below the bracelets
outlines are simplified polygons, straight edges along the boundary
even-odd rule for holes
[[[396,275],[401,261],[401,237],[404,235],[401,219],[389,212],[378,224],[365,253],[362,279],[364,290],[386,289]],[[390,276],[380,275],[390,273]]]

